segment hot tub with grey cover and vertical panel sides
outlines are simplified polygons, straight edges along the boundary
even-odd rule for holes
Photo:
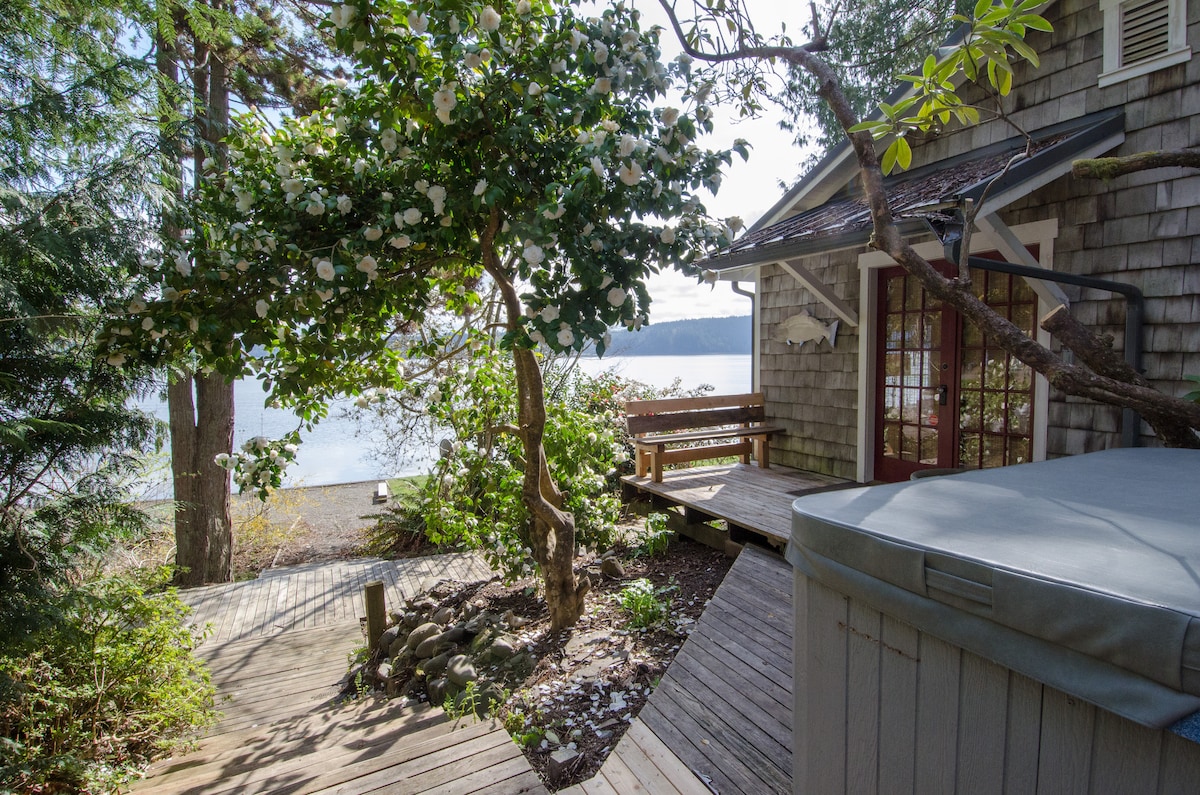
[[[797,793],[1200,793],[1200,452],[796,501]]]

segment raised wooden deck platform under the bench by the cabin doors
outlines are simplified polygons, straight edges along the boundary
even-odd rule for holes
[[[670,470],[664,473],[662,483],[625,476],[622,483],[626,498],[643,495],[660,506],[678,506],[682,510],[678,530],[706,543],[714,544],[719,538],[708,528],[715,519],[727,522],[733,542],[743,542],[749,534],[778,549],[792,536],[792,501],[800,492],[856,485],[815,472],[760,470],[746,464]]]

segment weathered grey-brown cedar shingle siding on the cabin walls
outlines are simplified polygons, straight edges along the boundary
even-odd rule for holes
[[[1200,50],[1200,2],[1188,4],[1188,42]],[[1100,89],[1103,16],[1096,0],[1060,0],[1045,11],[1054,34],[1030,43],[1042,67],[1016,70],[1006,100],[1014,121],[1039,130],[1106,108],[1124,108],[1126,142],[1110,154],[1200,147],[1200,58]],[[943,135],[914,148],[913,166],[970,153],[1010,138],[1001,122]],[[1010,228],[1054,219],[1054,269],[1129,282],[1146,295],[1146,376],[1172,394],[1183,375],[1200,375],[1200,174],[1144,172],[1104,184],[1063,177],[1000,213]],[[859,306],[857,257],[865,249],[805,258],[804,265],[842,300]],[[838,345],[802,349],[773,339],[775,327],[800,310],[822,322],[834,315],[778,265],[761,270],[762,389],[768,416],[788,426],[775,460],[838,477],[856,472],[858,334],[841,323]],[[1109,293],[1063,286],[1075,317],[1123,348],[1124,304]],[[872,400],[871,396],[865,398]],[[1046,454],[1072,455],[1120,446],[1120,412],[1050,393]],[[1152,444],[1142,424],[1142,442]]]

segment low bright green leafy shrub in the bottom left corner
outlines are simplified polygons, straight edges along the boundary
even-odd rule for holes
[[[192,656],[168,570],[86,582],[54,621],[0,652],[0,784],[108,791],[211,724],[214,689]]]

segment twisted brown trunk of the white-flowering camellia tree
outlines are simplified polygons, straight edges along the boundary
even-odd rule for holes
[[[498,228],[499,215],[493,211],[488,228],[480,238],[484,268],[496,281],[504,300],[508,329],[514,331],[521,322],[521,299],[496,253]],[[562,509],[563,495],[554,484],[542,447],[546,435],[546,393],[538,357],[533,351],[514,347],[512,363],[517,379],[517,425],[524,448],[521,496],[532,519],[529,548],[541,567],[550,628],[558,632],[572,627],[583,615],[592,580],[587,574],[575,576],[575,516]]]

